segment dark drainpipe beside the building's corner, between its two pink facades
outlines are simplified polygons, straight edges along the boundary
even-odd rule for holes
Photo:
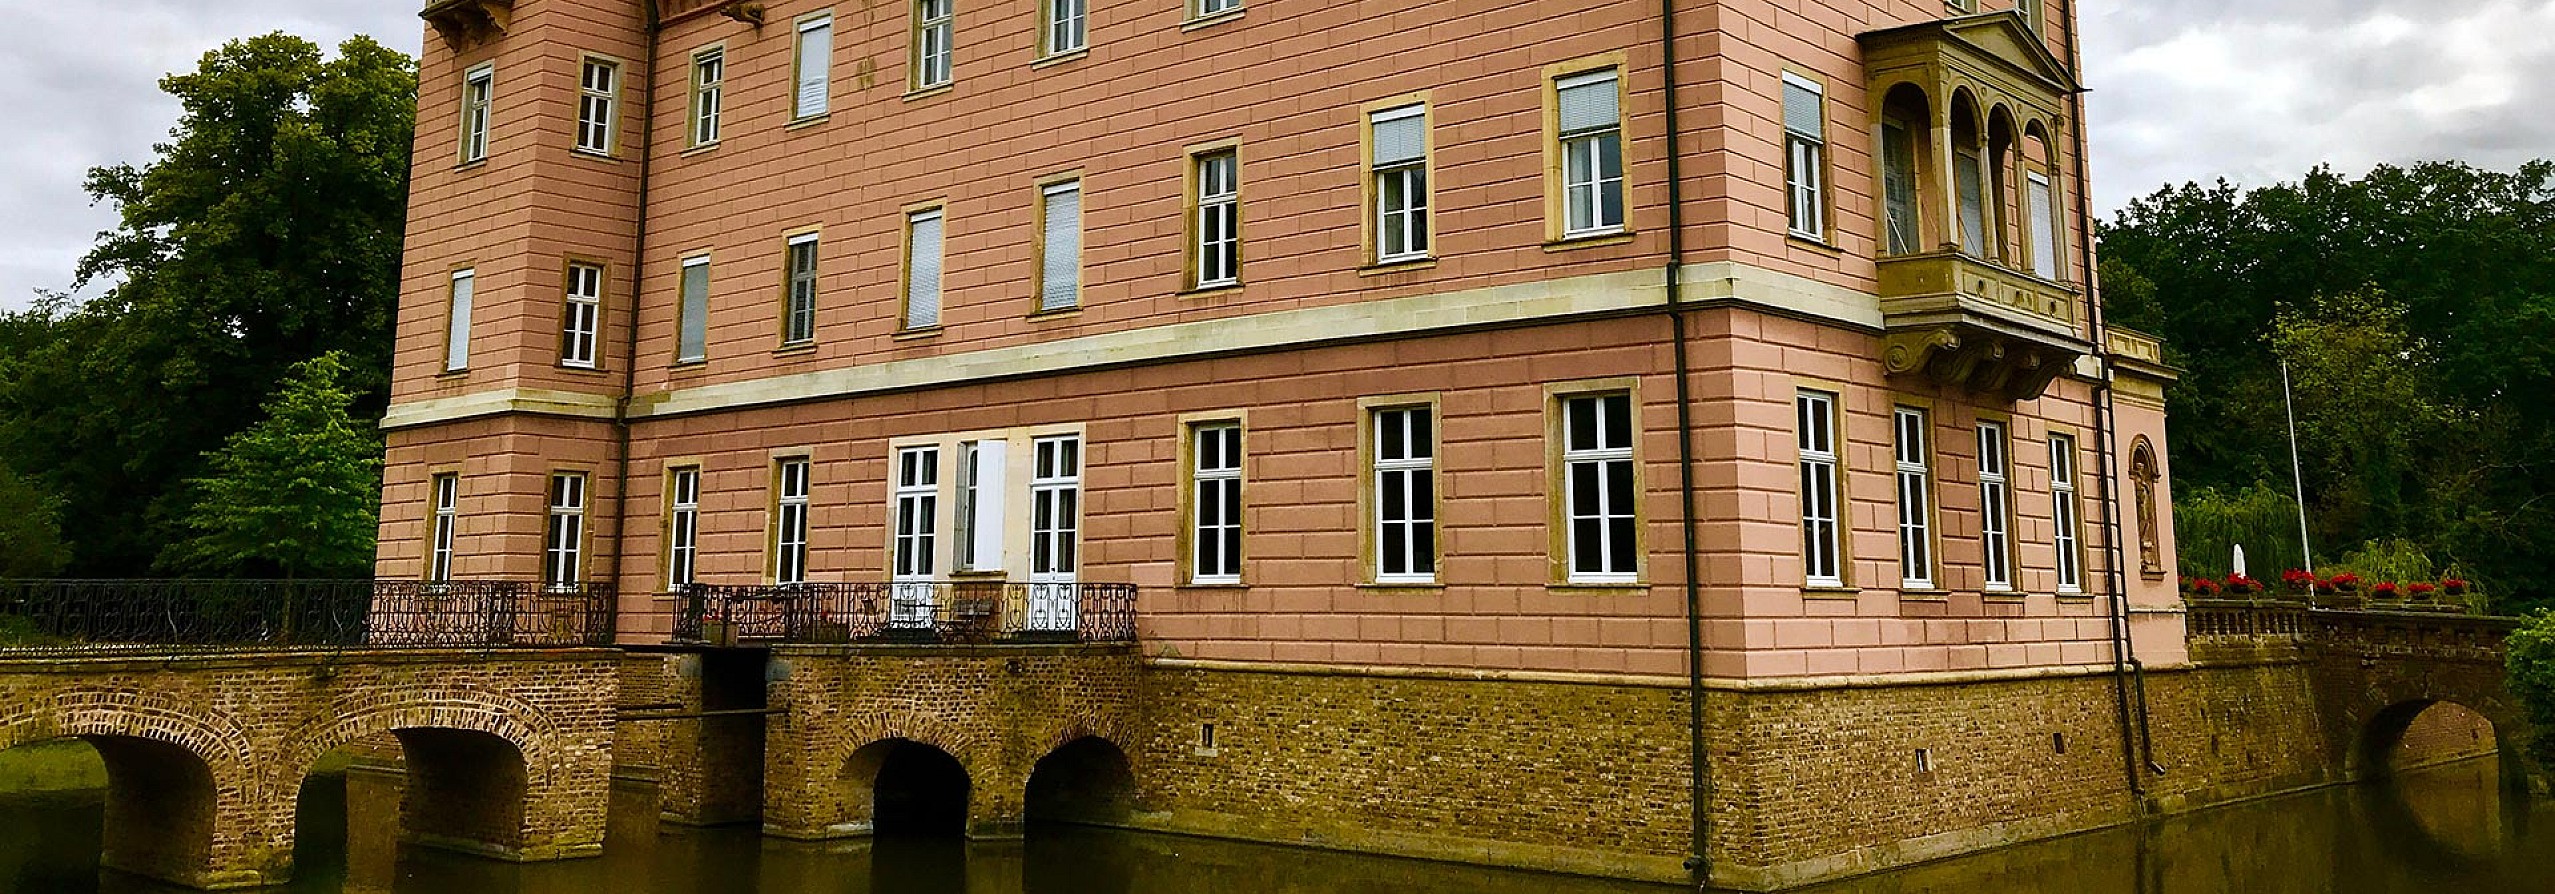
[[[1676,358],[1676,521],[1684,529],[1686,575],[1686,802],[1694,810],[1686,871],[1702,889],[1712,884],[1712,761],[1704,751],[1704,582],[1694,526],[1694,363],[1686,358],[1686,309],[1679,284],[1686,268],[1686,179],[1679,163],[1684,130],[1676,125],[1676,0],[1658,0],[1658,56],[1668,130],[1668,268],[1661,309],[1668,317],[1668,352]]]

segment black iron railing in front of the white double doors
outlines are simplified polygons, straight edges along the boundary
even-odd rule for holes
[[[675,639],[690,644],[1127,644],[1134,585],[899,580],[690,585]]]

